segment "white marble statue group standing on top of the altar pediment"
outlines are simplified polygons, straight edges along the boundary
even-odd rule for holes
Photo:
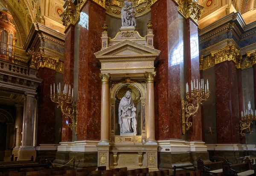
[[[124,6],[121,9],[121,20],[122,20],[121,28],[135,28],[136,27],[135,14],[136,14],[136,9],[132,5],[131,1],[125,0]]]

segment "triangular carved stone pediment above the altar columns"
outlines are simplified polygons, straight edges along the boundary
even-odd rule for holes
[[[123,40],[122,42],[116,43],[115,45],[96,52],[94,55],[101,61],[102,58],[112,58],[117,56],[129,56],[130,58],[144,56],[156,58],[159,54],[160,51],[157,49],[136,43],[131,40]]]

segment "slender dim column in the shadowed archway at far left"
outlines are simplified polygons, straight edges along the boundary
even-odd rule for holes
[[[16,118],[15,118],[15,129],[16,129],[16,139],[15,147],[20,147],[21,145],[21,132],[22,132],[22,116],[23,116],[23,106],[15,105],[16,107]]]

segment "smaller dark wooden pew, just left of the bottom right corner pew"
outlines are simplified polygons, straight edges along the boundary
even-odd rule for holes
[[[198,170],[204,171],[204,173],[222,173],[222,163],[223,162],[210,162],[204,164],[204,161],[202,159],[199,159],[197,161]]]

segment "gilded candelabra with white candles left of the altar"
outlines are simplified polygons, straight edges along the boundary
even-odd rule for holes
[[[68,89],[69,88],[69,89]],[[57,93],[55,93],[55,84],[53,84],[53,93],[51,85],[51,95],[50,98],[52,102],[57,104],[57,107],[61,107],[61,113],[65,118],[70,118],[71,122],[68,123],[68,127],[73,130],[74,125],[76,125],[76,134],[77,134],[77,102],[75,103],[73,96],[73,88],[71,94],[71,87],[64,85],[63,91],[61,91],[61,83],[57,84]]]

